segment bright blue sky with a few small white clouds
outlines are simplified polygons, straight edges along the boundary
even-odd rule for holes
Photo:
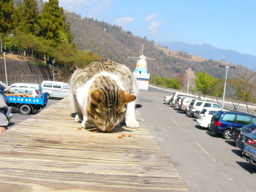
[[[154,42],[211,44],[256,56],[256,0],[59,0],[59,6]]]

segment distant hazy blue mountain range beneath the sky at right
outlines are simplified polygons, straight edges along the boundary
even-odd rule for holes
[[[232,64],[240,64],[249,69],[256,70],[256,56],[241,54],[233,50],[219,49],[209,44],[187,44],[179,41],[174,42],[155,42],[160,46],[168,47],[174,51],[184,51],[191,55],[198,55],[203,58],[226,61]]]

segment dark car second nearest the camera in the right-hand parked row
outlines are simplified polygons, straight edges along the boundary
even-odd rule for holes
[[[256,133],[241,133],[236,140],[236,146],[243,151],[245,143],[256,145]]]

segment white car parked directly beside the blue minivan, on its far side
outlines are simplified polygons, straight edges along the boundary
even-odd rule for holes
[[[207,130],[209,130],[208,126],[211,123],[212,116],[214,115],[214,113],[216,111],[221,111],[221,110],[222,111],[230,111],[230,110],[226,110],[224,108],[212,108],[212,107],[203,108],[203,110],[199,114],[198,119],[196,119],[197,124],[200,125],[201,127],[207,128]]]

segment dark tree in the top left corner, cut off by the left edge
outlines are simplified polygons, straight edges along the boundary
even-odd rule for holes
[[[0,33],[7,35],[14,28],[12,14],[14,13],[12,0],[0,0]]]

